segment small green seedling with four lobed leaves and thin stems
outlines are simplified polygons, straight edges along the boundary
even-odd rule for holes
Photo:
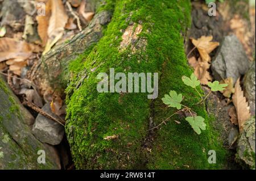
[[[200,100],[200,102],[198,102],[196,104],[199,104],[199,103],[203,102],[205,99],[207,99],[207,97],[210,95],[211,92],[225,90],[225,87],[228,86],[228,84],[226,84],[226,83],[220,84],[220,82],[218,82],[218,81],[214,81],[213,83],[209,82],[208,83],[208,86],[210,87],[209,94],[207,96],[205,96],[205,98],[203,99],[200,92],[196,89],[196,87],[200,85],[200,81],[197,79],[195,74],[192,73],[190,78],[186,77],[184,75],[181,79],[185,85],[192,87],[200,95],[201,100]],[[163,103],[166,104],[168,107],[174,107],[174,108],[177,108],[177,110],[179,110],[179,111],[175,112],[174,114],[172,114],[170,117],[174,116],[178,112],[181,112],[181,111],[187,112],[188,111],[191,116],[186,117],[185,120],[188,121],[188,123],[191,125],[193,130],[197,134],[201,134],[201,130],[204,131],[206,129],[206,124],[204,123],[204,120],[205,120],[204,117],[197,116],[196,113],[191,110],[191,108],[181,104],[181,102],[183,100],[182,94],[177,94],[176,91],[171,90],[169,95],[167,95],[167,94],[164,95],[164,98],[162,98],[162,100],[163,100]],[[184,108],[181,109],[182,107],[184,107]],[[170,117],[168,117],[166,120],[164,120],[161,124],[165,123],[168,119],[170,119]],[[161,124],[159,124],[159,125],[161,125]],[[159,125],[157,127],[159,127]],[[157,128],[157,127],[155,127],[155,128]],[[154,129],[154,128],[152,128],[152,129]]]

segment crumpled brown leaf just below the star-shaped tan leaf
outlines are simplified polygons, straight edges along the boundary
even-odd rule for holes
[[[188,63],[194,68],[194,73],[200,80],[201,85],[207,85],[209,81],[212,81],[212,76],[210,76],[208,71],[210,68],[208,62],[201,61],[201,58],[196,60],[195,57],[191,57],[188,59]]]

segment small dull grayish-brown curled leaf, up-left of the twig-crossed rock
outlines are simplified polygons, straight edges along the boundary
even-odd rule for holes
[[[43,107],[43,102],[38,94],[34,89],[25,89],[23,88],[20,90],[19,94],[24,94],[26,95],[26,99],[28,102],[35,104],[38,107]]]

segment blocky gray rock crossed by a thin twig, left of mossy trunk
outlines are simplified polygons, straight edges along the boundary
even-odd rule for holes
[[[42,110],[57,119],[57,116],[52,113],[49,103],[45,104]],[[42,142],[51,145],[58,145],[63,139],[64,127],[56,121],[39,114],[36,117],[35,124],[33,125],[32,133]]]

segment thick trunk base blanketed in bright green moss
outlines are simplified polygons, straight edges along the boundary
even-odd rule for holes
[[[114,2],[114,1],[113,1]],[[222,166],[224,151],[218,145],[204,106],[194,106],[197,93],[181,83],[192,73],[184,54],[183,41],[190,24],[190,1],[122,0],[115,2],[112,21],[104,37],[70,68],[73,78],[67,89],[66,133],[77,169],[214,169]],[[120,47],[127,29],[141,26],[138,39]],[[81,60],[85,60],[82,62]],[[100,72],[159,73],[159,96],[148,93],[99,93]],[[188,106],[205,117],[207,131],[199,136],[184,118],[174,117],[153,133],[155,124],[175,110],[161,98],[170,90],[182,93]],[[176,124],[173,120],[179,120]],[[118,139],[104,140],[118,135]],[[149,142],[145,142],[150,140]],[[148,145],[148,149],[144,149]],[[146,150],[150,150],[147,153]],[[208,151],[216,150],[218,164],[208,163]],[[184,167],[185,165],[185,167]]]

